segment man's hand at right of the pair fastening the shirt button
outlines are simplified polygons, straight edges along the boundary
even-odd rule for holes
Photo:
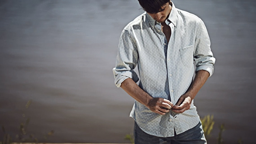
[[[172,111],[175,113],[183,113],[185,110],[190,109],[190,105],[192,102],[192,98],[190,97],[189,94],[185,93],[182,95],[176,105],[172,107]]]

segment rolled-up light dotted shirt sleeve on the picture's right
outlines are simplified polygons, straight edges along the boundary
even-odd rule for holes
[[[194,61],[196,72],[199,70],[206,70],[210,76],[213,74],[215,58],[211,51],[210,38],[203,21],[199,22],[195,38]],[[209,76],[209,77],[210,77]]]

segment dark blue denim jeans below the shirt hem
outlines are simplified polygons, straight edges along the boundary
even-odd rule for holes
[[[172,137],[158,137],[142,131],[134,122],[135,144],[207,144],[201,122],[195,127]]]

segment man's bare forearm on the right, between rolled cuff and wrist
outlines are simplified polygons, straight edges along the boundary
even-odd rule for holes
[[[186,92],[190,95],[193,100],[196,94],[199,92],[200,88],[203,87],[206,80],[209,78],[209,72],[206,70],[199,70],[194,77],[194,81],[192,82],[189,90]]]

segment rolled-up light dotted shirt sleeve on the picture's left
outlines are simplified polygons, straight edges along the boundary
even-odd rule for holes
[[[113,68],[115,85],[121,86],[121,83],[128,78],[133,79],[135,83],[139,80],[134,71],[138,61],[138,52],[136,43],[132,40],[128,30],[124,29],[119,39],[116,65]]]

